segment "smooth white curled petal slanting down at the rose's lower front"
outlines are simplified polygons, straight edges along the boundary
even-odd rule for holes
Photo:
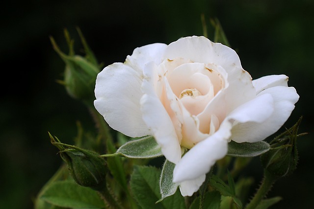
[[[187,151],[173,171],[173,181],[198,179],[208,173],[211,166],[227,154],[230,129],[230,126],[219,129]]]

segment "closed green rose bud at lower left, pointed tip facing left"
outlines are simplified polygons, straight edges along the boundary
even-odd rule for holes
[[[106,185],[106,162],[96,152],[65,145],[54,140],[52,144],[60,150],[61,158],[66,162],[72,178],[81,186],[102,190]]]

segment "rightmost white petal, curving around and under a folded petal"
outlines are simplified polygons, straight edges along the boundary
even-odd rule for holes
[[[273,87],[263,90],[258,97],[271,95],[274,100],[274,111],[271,116],[259,122],[238,123],[232,129],[232,140],[235,142],[257,142],[262,141],[269,135],[275,133],[289,118],[294,104],[299,95],[293,87]]]

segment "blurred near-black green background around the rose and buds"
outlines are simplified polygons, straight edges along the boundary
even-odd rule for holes
[[[29,0],[0,3],[0,207],[30,209],[32,199],[61,163],[47,131],[71,143],[76,121],[87,130],[86,108],[55,82],[63,61],[53,51],[52,35],[63,51],[67,28],[80,45],[79,27],[104,65],[124,61],[135,47],[169,44],[182,36],[202,35],[200,16],[217,17],[253,79],[286,74],[300,95],[286,125],[301,115],[299,165],[269,194],[282,202],[273,208],[311,208],[314,196],[313,0]],[[208,21],[209,22],[209,21]],[[208,24],[209,25],[209,24]],[[209,37],[212,30],[209,29]],[[261,178],[259,160],[249,175]]]

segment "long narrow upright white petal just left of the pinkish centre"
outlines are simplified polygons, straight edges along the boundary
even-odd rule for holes
[[[181,158],[181,147],[171,118],[155,91],[157,66],[150,62],[144,69],[142,90],[144,95],[140,100],[143,119],[152,131],[163,155],[173,163]]]

